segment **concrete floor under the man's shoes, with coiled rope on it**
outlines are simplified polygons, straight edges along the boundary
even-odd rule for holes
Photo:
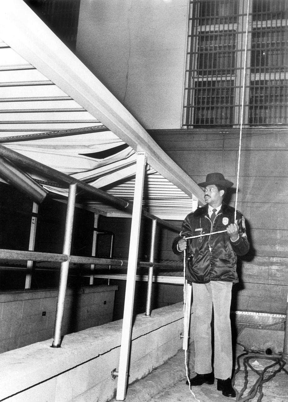
[[[271,343],[270,343],[271,344]],[[190,352],[191,351],[191,352]],[[236,345],[236,356],[244,353],[242,345]],[[249,359],[247,359],[249,357]],[[281,355],[277,356],[281,357]],[[235,384],[236,398],[227,398],[217,391],[217,381],[213,385],[203,384],[202,386],[192,387],[192,392],[186,383],[186,365],[184,351],[179,351],[176,356],[162,366],[153,370],[149,375],[136,381],[128,387],[125,402],[228,402],[230,401],[253,401],[259,402],[288,402],[288,363],[278,372],[275,377],[263,384],[263,397],[259,398],[259,387],[253,398],[249,399],[249,390],[254,386],[259,375],[247,366],[248,383],[247,389],[242,390],[245,382],[244,359],[248,360],[251,367],[257,369],[259,373],[268,365],[273,364],[274,356],[265,353],[248,353],[235,361]],[[190,377],[195,375],[193,371],[193,344],[186,355],[188,361]],[[274,367],[267,369],[264,379],[267,379],[273,371],[280,369],[278,363]],[[287,372],[285,371],[287,370]],[[242,391],[242,393],[241,393]],[[194,394],[194,395],[193,395]],[[113,400],[116,401],[116,400]],[[112,402],[112,401],[111,401]]]

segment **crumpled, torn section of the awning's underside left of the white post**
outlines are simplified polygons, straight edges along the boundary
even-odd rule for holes
[[[118,151],[121,145],[124,149]],[[5,146],[97,188],[135,175],[135,151],[111,131],[36,139]],[[108,156],[101,157],[101,154]],[[31,176],[45,181],[35,172]],[[44,187],[53,193],[67,195],[67,189],[51,185]]]

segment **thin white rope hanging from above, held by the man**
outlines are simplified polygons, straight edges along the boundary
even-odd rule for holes
[[[246,13],[246,37],[245,37],[245,51],[244,51],[244,69],[243,69],[243,83],[242,83],[242,104],[241,104],[241,115],[240,115],[240,135],[239,135],[239,149],[238,149],[238,166],[237,166],[237,182],[236,182],[236,198],[235,198],[235,215],[234,215],[234,222],[236,223],[236,209],[237,209],[237,202],[238,202],[238,187],[239,187],[239,170],[240,170],[240,154],[241,154],[241,140],[242,140],[242,128],[243,128],[243,114],[244,114],[244,90],[245,90],[245,80],[246,80],[246,60],[247,60],[247,41],[248,41],[248,20],[249,20],[249,1],[247,1],[247,13]],[[213,234],[217,233],[224,233],[226,230],[220,230],[219,232],[211,232],[211,233],[206,233],[206,234],[199,234],[197,236],[191,236],[187,237],[186,239],[195,239],[197,237],[203,237],[203,236],[211,236]],[[183,297],[184,297],[184,303],[183,303],[183,310],[184,310],[184,333],[188,333],[189,331],[189,316],[185,314],[185,307],[186,307],[186,250],[184,250],[184,290],[183,290]],[[185,368],[186,368],[186,377],[189,382],[189,388],[190,392],[195,398],[195,401],[199,401],[199,399],[196,398],[194,392],[191,390],[191,384],[190,384],[190,379],[189,379],[189,373],[188,373],[188,365],[187,365],[187,350],[185,348]],[[238,395],[237,395],[238,396]],[[237,399],[237,398],[236,398]]]

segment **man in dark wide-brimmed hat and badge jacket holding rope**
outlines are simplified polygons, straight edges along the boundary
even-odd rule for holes
[[[191,386],[213,384],[224,396],[235,397],[231,384],[232,339],[230,305],[232,284],[238,282],[237,255],[249,250],[245,221],[240,212],[223,202],[233,183],[221,173],[209,173],[204,183],[205,205],[186,216],[173,241],[175,254],[186,252],[186,279],[192,283],[195,343],[195,377]],[[187,237],[213,232],[186,240]],[[188,244],[187,244],[188,243]],[[214,372],[212,370],[211,319],[214,313]],[[186,384],[189,384],[187,381]]]

